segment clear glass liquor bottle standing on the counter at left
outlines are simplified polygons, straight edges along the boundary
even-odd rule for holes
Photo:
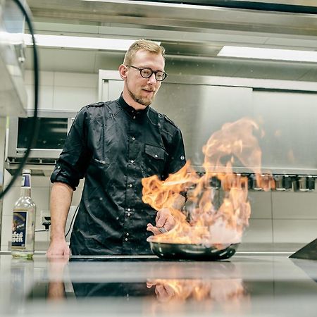
[[[35,203],[31,199],[31,170],[23,170],[21,194],[13,209],[11,254],[32,259],[35,239]]]

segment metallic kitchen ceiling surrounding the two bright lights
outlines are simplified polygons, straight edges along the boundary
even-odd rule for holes
[[[192,1],[195,2],[199,1]],[[253,3],[254,8],[259,3],[226,2],[240,6]],[[287,1],[294,6],[288,6],[288,12],[278,12],[167,1],[27,0],[37,34],[148,38],[166,47],[167,66],[172,70],[182,67],[186,72],[184,66],[197,65],[196,71],[201,75],[317,81],[316,63],[217,56],[224,45],[317,51],[317,15],[295,12],[316,8],[314,2]],[[266,1],[266,8],[271,8],[269,4],[282,6],[285,1]],[[27,49],[27,56],[30,54]],[[89,49],[40,48],[39,54],[41,70],[82,73],[116,69],[123,59],[122,52]],[[30,59],[26,63],[29,69],[32,68]],[[195,71],[193,67],[188,67],[189,70]]]

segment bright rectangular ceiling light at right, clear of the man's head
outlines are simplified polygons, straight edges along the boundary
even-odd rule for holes
[[[223,46],[217,56],[317,63],[317,51],[295,51],[292,49],[263,49],[259,47]]]

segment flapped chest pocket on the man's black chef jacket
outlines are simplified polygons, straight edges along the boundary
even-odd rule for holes
[[[168,154],[161,147],[145,144],[145,159],[144,163],[147,168],[148,175],[160,174],[164,170]]]

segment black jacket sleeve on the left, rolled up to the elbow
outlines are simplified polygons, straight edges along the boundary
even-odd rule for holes
[[[59,156],[51,182],[64,182],[74,190],[84,178],[91,155],[87,144],[85,107],[77,114]]]

